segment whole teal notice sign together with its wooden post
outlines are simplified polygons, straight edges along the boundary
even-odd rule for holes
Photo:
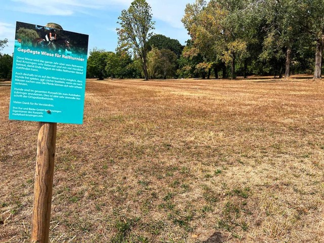
[[[88,39],[55,23],[16,25],[9,119],[38,121],[32,243],[49,242],[57,123],[83,123]]]

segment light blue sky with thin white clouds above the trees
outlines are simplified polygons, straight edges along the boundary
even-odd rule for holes
[[[89,34],[89,50],[97,47],[115,51],[116,28],[121,10],[133,0],[0,0],[0,39],[9,46],[3,54],[12,54],[16,21],[37,25],[53,22],[64,30]],[[189,38],[181,18],[187,3],[194,0],[146,0],[151,6],[156,34],[163,34],[185,45]]]

